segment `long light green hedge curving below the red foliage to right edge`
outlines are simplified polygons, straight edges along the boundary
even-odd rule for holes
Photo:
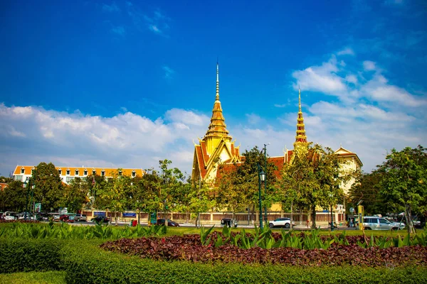
[[[66,246],[67,283],[423,283],[427,268],[305,267],[152,261],[101,251],[95,244]]]

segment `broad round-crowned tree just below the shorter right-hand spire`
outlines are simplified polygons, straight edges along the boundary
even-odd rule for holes
[[[315,146],[297,147],[291,163],[283,168],[283,202],[300,209],[310,209],[312,228],[316,227],[316,207],[330,208],[342,200],[340,185],[354,176],[339,166],[337,155],[331,148]]]

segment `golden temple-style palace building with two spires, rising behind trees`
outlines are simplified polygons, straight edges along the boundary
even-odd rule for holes
[[[206,182],[214,182],[216,178],[219,178],[218,165],[222,163],[224,167],[242,163],[244,159],[239,153],[239,146],[235,146],[232,136],[229,134],[225,119],[223,116],[223,110],[221,102],[219,100],[219,70],[218,63],[216,63],[216,97],[214,102],[214,109],[212,110],[211,123],[209,124],[208,131],[204,138],[199,138],[199,143],[194,143],[194,160],[193,170],[191,178],[195,181],[203,180]],[[302,115],[301,108],[301,92],[298,92],[298,113],[297,113],[297,129],[295,136],[295,143],[293,143],[294,149],[297,147],[307,147],[310,142],[307,141],[305,133],[304,117]],[[362,168],[362,161],[359,159],[356,153],[352,153],[342,147],[335,151],[338,155],[339,160],[345,160],[347,163],[343,163],[346,170],[358,170]],[[278,157],[269,157],[268,161],[274,163],[278,171],[276,175],[280,176],[280,172],[283,165],[286,163],[292,163],[293,150],[286,149],[284,155]],[[347,182],[346,185],[342,185],[344,194],[347,195],[352,182]]]

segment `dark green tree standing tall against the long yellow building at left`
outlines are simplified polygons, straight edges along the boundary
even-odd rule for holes
[[[41,202],[44,212],[60,207],[63,185],[53,163],[39,163],[33,170],[34,201]]]

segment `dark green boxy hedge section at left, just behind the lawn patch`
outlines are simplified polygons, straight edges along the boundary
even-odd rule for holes
[[[63,244],[55,239],[1,238],[0,273],[59,270]]]

